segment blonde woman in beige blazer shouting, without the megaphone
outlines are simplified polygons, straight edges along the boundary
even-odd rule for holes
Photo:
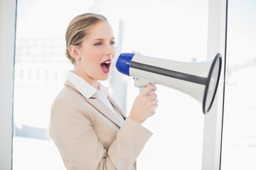
[[[50,137],[66,169],[136,169],[151,132],[142,123],[157,108],[156,86],[146,86],[127,117],[99,80],[107,80],[114,59],[114,35],[107,18],[85,13],[66,31],[66,56],[75,66],[53,101]]]

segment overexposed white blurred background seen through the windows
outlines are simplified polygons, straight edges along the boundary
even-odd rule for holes
[[[18,0],[14,170],[65,169],[48,135],[50,106],[73,69],[65,57],[65,30],[86,12],[102,13],[110,21],[115,59],[121,52],[140,52],[184,62],[206,60],[205,0]],[[256,1],[229,1],[221,169],[256,169],[255,16]],[[102,82],[127,115],[139,94],[133,81],[113,64],[110,79]],[[138,158],[138,169],[201,169],[201,104],[173,89],[157,88],[159,108],[144,123],[154,135]]]

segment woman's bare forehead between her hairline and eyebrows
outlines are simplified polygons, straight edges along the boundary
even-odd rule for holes
[[[87,30],[87,39],[108,39],[113,38],[113,30],[109,23],[100,21]]]

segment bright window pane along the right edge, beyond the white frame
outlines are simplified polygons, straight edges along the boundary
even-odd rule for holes
[[[256,3],[229,1],[221,169],[256,169]]]

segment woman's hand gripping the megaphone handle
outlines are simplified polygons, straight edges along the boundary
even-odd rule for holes
[[[142,93],[137,96],[132,106],[131,113],[129,113],[129,118],[132,118],[138,123],[143,123],[154,113],[158,106],[158,100],[156,99],[156,94],[149,94],[152,90],[156,91],[156,86],[149,84]]]

